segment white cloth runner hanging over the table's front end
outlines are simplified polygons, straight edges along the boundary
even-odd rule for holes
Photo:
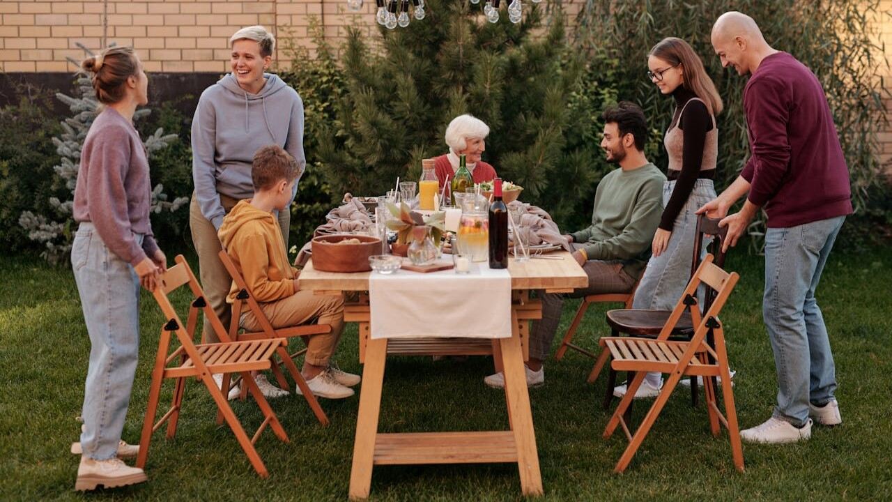
[[[445,255],[442,261],[450,261]],[[485,262],[471,272],[372,272],[368,280],[371,338],[511,336],[511,276]]]

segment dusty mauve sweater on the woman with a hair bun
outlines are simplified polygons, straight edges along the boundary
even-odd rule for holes
[[[130,121],[105,108],[87,131],[80,152],[74,220],[93,222],[105,246],[136,266],[158,249],[149,222],[150,187],[143,141]],[[145,234],[142,248],[134,233]]]

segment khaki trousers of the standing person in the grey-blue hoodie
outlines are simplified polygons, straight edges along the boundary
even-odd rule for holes
[[[220,194],[220,203],[227,214],[238,204],[238,199]],[[282,236],[285,239],[285,251],[288,250],[288,229],[291,225],[291,212],[280,211],[278,214],[279,226],[282,228]],[[198,254],[198,272],[202,280],[204,297],[214,312],[223,322],[223,327],[229,329],[232,321],[232,305],[227,304],[226,297],[232,288],[232,278],[220,261],[218,253],[222,249],[217,229],[202,214],[198,205],[198,198],[192,194],[192,203],[189,205],[189,230],[192,232],[192,243],[195,253]],[[211,323],[204,319],[202,328],[202,340],[205,342],[218,342],[217,334],[211,329]]]

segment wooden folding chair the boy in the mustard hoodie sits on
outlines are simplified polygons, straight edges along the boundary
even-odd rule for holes
[[[257,303],[257,299],[254,298],[251,289],[248,289],[248,284],[244,281],[244,277],[242,277],[242,272],[238,270],[238,267],[235,266],[235,262],[232,260],[227,254],[226,249],[223,249],[219,252],[220,262],[223,263],[223,266],[226,267],[227,272],[229,272],[229,276],[232,277],[232,280],[235,282],[235,287],[238,288],[238,293],[235,295],[235,302],[232,305],[232,322],[229,324],[229,338],[234,340],[260,340],[260,339],[292,339],[294,337],[300,337],[304,342],[307,342],[310,339],[310,335],[317,335],[323,333],[330,333],[332,327],[329,324],[307,324],[302,326],[289,326],[287,328],[273,328],[272,323],[269,322],[266,314],[263,314],[263,310],[260,309],[260,304]],[[248,305],[248,308],[251,310],[251,313],[254,314],[254,317],[257,319],[257,322],[260,323],[260,331],[246,331],[239,332],[239,320],[241,319],[242,312],[244,310],[244,304]],[[287,347],[287,345],[285,346]],[[278,381],[279,386],[282,389],[290,390],[288,386],[288,382],[285,380],[285,374],[283,374],[280,366],[285,366],[285,369],[291,374],[291,377],[295,384],[297,384],[298,388],[301,389],[301,394],[303,397],[307,399],[307,403],[310,405],[310,408],[313,410],[313,414],[316,414],[316,418],[319,423],[322,425],[328,425],[328,417],[326,413],[322,411],[322,406],[319,406],[318,399],[315,395],[313,395],[312,391],[310,391],[310,387],[307,385],[307,381],[301,375],[301,372],[297,369],[297,365],[294,364],[294,360],[306,353],[307,349],[303,348],[298,350],[297,352],[288,355],[288,357],[281,358],[277,364],[273,364],[272,372],[276,376],[276,380]],[[286,351],[287,353],[287,351]],[[224,382],[226,382],[226,378],[224,377]],[[242,394],[244,397],[244,387],[242,388]],[[220,421],[220,417],[217,418],[218,422]]]

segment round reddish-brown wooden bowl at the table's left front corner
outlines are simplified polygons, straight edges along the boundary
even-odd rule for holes
[[[320,235],[310,242],[313,268],[322,272],[368,272],[368,257],[381,253],[381,239],[368,235]]]

